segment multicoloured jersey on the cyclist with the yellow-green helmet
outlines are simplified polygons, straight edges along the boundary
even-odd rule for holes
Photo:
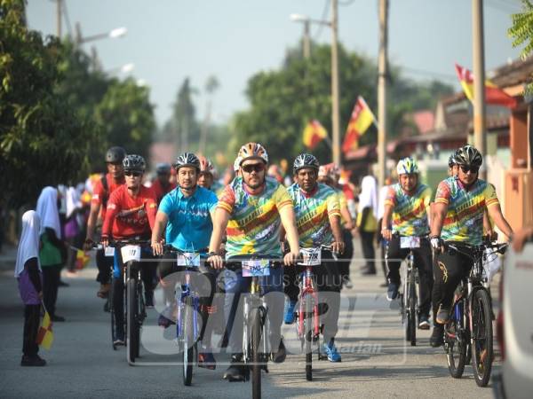
[[[393,207],[393,232],[401,236],[426,236],[429,233],[427,209],[432,190],[418,184],[412,195],[405,193],[399,183],[389,187],[385,205]]]

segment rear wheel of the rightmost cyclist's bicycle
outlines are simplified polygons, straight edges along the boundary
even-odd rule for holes
[[[454,306],[454,313],[444,327],[444,341],[449,374],[454,379],[460,379],[463,376],[463,372],[465,372],[467,346],[463,319],[463,302],[457,302]]]

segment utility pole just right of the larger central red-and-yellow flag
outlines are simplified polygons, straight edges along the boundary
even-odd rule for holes
[[[378,183],[385,184],[386,175],[386,80],[388,77],[388,0],[379,0],[378,59]]]

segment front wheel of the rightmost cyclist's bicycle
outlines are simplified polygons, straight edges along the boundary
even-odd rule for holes
[[[472,299],[472,367],[475,383],[485,387],[489,383],[492,359],[492,319],[489,294],[477,290]]]

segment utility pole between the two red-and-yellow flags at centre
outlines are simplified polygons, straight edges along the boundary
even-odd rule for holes
[[[331,0],[331,129],[333,162],[340,166],[340,115],[338,110],[338,0]]]

